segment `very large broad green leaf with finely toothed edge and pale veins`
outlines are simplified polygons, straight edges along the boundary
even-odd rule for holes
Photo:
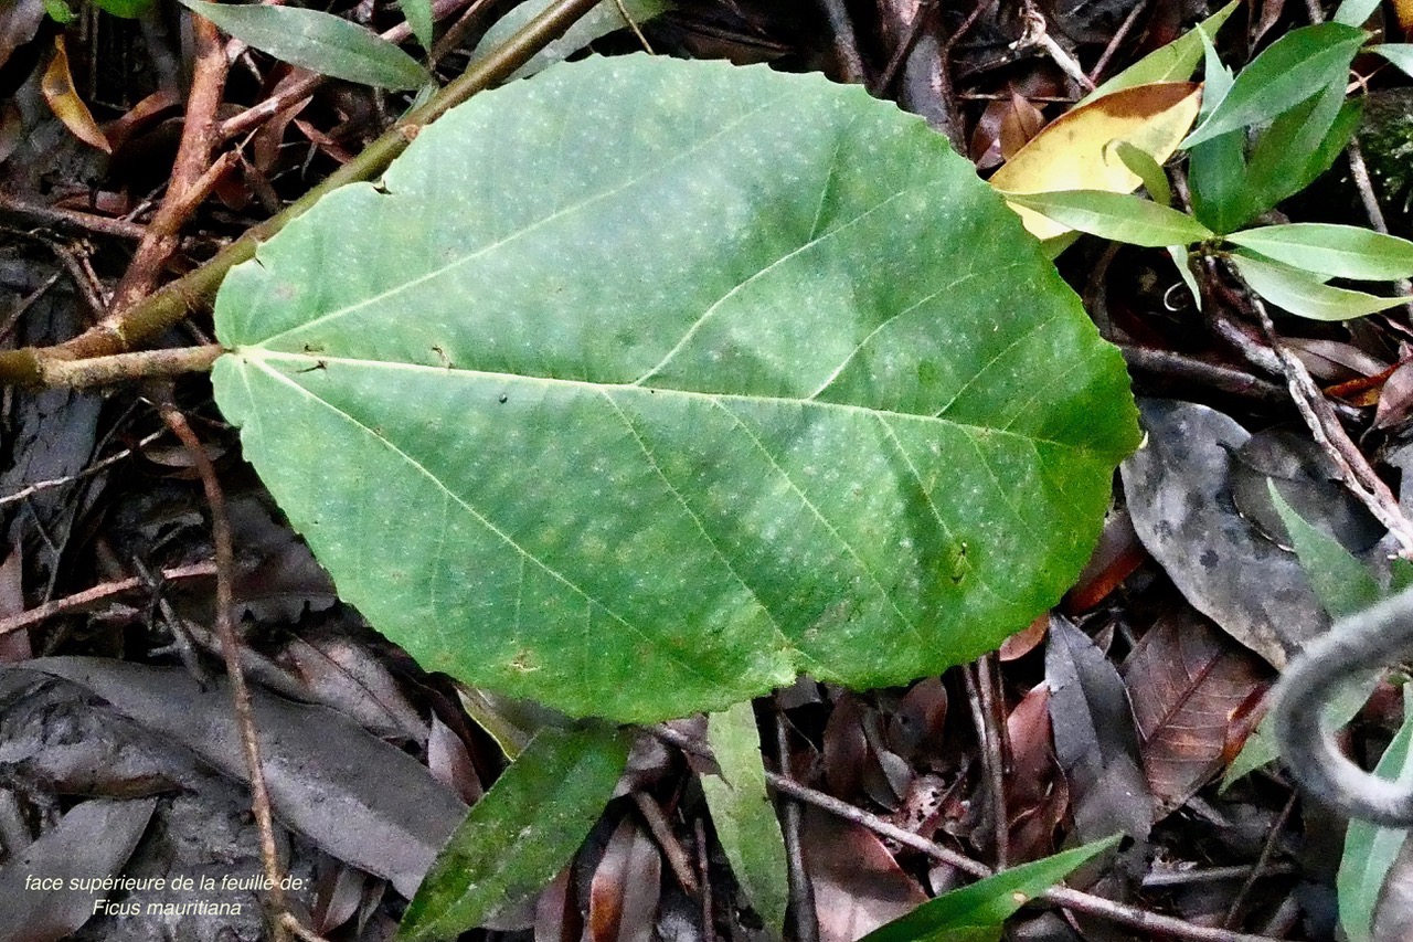
[[[232,270],[216,396],[341,594],[575,714],[993,648],[1085,562],[1128,376],[859,88],[636,55],[424,130]]]

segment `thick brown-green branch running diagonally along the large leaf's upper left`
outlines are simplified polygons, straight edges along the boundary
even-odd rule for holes
[[[343,184],[369,180],[383,173],[425,124],[437,120],[472,95],[509,78],[536,52],[562,35],[565,30],[593,8],[596,1],[558,0],[506,40],[504,45],[473,64],[461,78],[438,92],[432,100],[397,122],[357,157],[329,174],[324,182],[309,190],[288,209],[252,226],[199,269],[148,294],[122,311],[116,320],[99,324],[59,347],[0,351],[0,386],[38,383],[44,375],[41,361],[47,356],[83,359],[120,354],[181,322],[188,314],[208,304],[226,277],[226,272],[253,257],[261,242],[270,239],[291,219],[302,215],[325,194]]]

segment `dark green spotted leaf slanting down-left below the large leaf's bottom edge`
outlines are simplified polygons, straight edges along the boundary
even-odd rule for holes
[[[584,843],[632,743],[602,726],[536,734],[447,842],[397,938],[455,938],[533,898]]]

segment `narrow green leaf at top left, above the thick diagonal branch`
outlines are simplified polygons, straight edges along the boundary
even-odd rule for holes
[[[387,40],[319,10],[203,0],[181,3],[242,42],[321,75],[390,89],[410,89],[432,81],[417,59]]]

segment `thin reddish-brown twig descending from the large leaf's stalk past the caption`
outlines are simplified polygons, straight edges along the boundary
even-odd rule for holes
[[[201,485],[211,505],[211,537],[216,549],[216,634],[220,636],[220,653],[226,662],[230,679],[230,697],[235,703],[236,728],[250,775],[250,803],[260,832],[260,860],[264,864],[266,880],[270,883],[270,904],[277,914],[274,922],[276,942],[284,942],[290,934],[285,917],[288,905],[281,887],[280,857],[274,843],[274,815],[270,810],[270,792],[266,788],[264,767],[260,764],[260,743],[256,738],[254,707],[246,675],[240,669],[240,641],[236,638],[233,583],[236,577],[235,549],[230,539],[230,518],[226,515],[226,495],[216,478],[216,468],[196,433],[187,424],[187,417],[168,399],[158,403],[162,421],[187,447],[187,454],[201,474]]]

